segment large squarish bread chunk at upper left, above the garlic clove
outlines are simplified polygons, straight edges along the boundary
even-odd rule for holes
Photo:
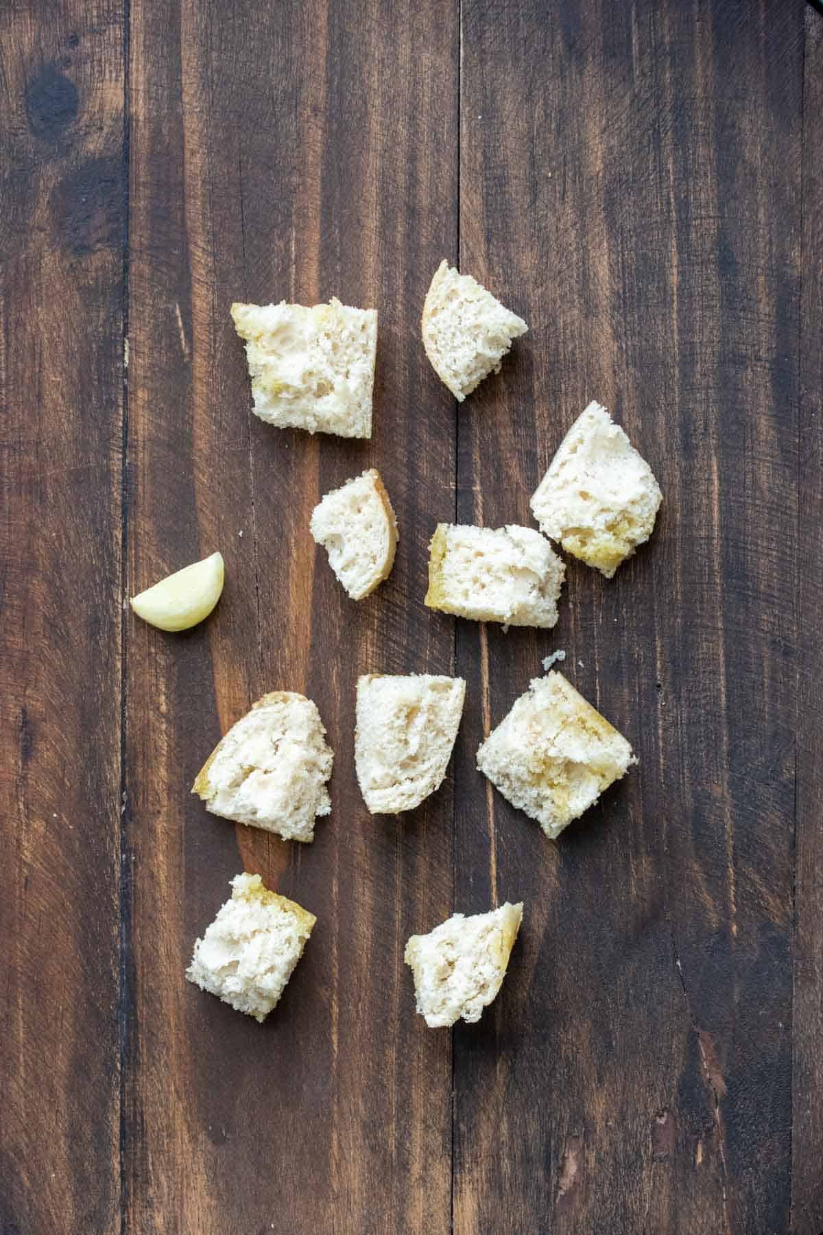
[[[246,340],[254,412],[279,429],[371,437],[376,309],[232,305]]]

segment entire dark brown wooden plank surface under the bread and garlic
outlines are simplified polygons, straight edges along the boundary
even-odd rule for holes
[[[818,1235],[823,16],[15,0],[0,98],[2,1235]],[[459,412],[444,256],[531,326]],[[380,311],[368,443],[249,411],[231,301],[333,294]],[[592,398],[651,542],[550,632],[424,610],[434,524],[531,524]],[[369,466],[354,605],[307,521]],[[216,548],[192,632],[123,604]],[[640,766],[552,844],[474,752],[556,647]],[[369,816],[357,674],[455,669],[447,782]],[[336,751],[312,846],[189,794],[278,688]],[[184,981],[242,868],[318,915],[264,1026]],[[427,1030],[406,937],[507,898],[500,998]]]

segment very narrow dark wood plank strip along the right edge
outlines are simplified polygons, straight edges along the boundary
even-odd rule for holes
[[[823,1230],[823,779],[821,653],[823,608],[823,17],[806,15],[803,62],[803,233],[801,299],[797,597],[797,851],[795,878],[795,1047],[792,1231]]]

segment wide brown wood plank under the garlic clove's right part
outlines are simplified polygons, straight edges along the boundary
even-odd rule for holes
[[[453,664],[452,626],[421,599],[428,521],[454,509],[454,411],[418,315],[457,252],[457,6],[132,0],[131,15],[130,585],[217,547],[228,582],[188,636],[128,625],[126,1225],[445,1231],[450,1041],[415,1018],[402,948],[450,910],[450,788],[371,820],[353,701],[358,672]],[[231,301],[329,294],[380,310],[370,443],[249,412]],[[307,525],[370,464],[401,540],[355,606]],[[220,732],[276,688],[316,700],[337,756],[310,847],[189,797]],[[184,982],[243,866],[318,915],[263,1028]]]

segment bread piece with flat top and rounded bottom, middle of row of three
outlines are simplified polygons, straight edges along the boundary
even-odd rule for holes
[[[358,678],[354,763],[373,815],[413,810],[439,789],[463,715],[463,678]]]

